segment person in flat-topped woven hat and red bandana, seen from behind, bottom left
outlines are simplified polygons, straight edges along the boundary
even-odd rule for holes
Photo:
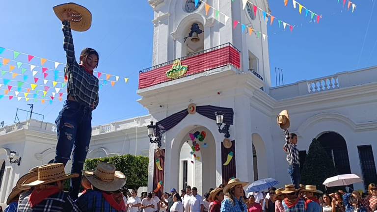
[[[22,199],[18,212],[79,212],[69,193],[63,191],[64,181],[78,176],[65,174],[63,163],[39,166],[38,177],[21,185],[32,191]]]

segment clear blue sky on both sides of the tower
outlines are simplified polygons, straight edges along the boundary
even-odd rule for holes
[[[296,25],[293,33],[282,31],[276,23],[268,28],[272,85],[274,67],[284,70],[287,84],[377,65],[377,12],[372,13],[375,1],[353,0],[357,7],[351,13],[337,0],[299,0],[308,9],[322,14],[320,24],[316,24],[309,23],[304,12],[299,15],[298,9],[292,7],[292,0],[287,7],[283,0],[270,0],[272,15]],[[147,0],[75,2],[93,14],[90,30],[73,32],[77,58],[83,48],[91,47],[100,53],[98,71],[130,78],[127,84],[120,79],[114,87],[107,85],[100,90],[100,104],[93,111],[92,125],[147,114],[136,102],[140,98],[136,95],[138,71],[150,67],[152,61],[153,10]],[[52,9],[60,3],[64,1],[3,1],[0,47],[65,62],[61,24]],[[7,56],[6,52],[3,56]],[[38,65],[34,60],[32,63]],[[13,123],[16,109],[27,110],[27,103],[32,102],[1,99],[0,122]],[[62,105],[57,101],[52,105],[37,102],[34,112],[44,114],[45,121],[54,122]],[[22,113],[20,119],[25,120],[25,115]]]

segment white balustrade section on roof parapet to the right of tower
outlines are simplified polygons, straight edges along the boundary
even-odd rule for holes
[[[339,80],[337,75],[321,78],[321,79],[313,79],[307,81],[308,84],[308,92],[321,92],[326,90],[338,89],[339,88]]]

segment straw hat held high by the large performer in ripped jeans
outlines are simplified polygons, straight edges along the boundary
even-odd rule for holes
[[[53,7],[55,15],[63,20],[63,12],[66,10],[71,11],[73,19],[70,21],[71,28],[75,31],[86,31],[92,25],[92,13],[85,7],[76,3],[64,3]]]

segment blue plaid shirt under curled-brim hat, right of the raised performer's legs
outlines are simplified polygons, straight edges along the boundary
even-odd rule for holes
[[[87,190],[76,204],[82,212],[123,212],[111,207],[100,191]]]

